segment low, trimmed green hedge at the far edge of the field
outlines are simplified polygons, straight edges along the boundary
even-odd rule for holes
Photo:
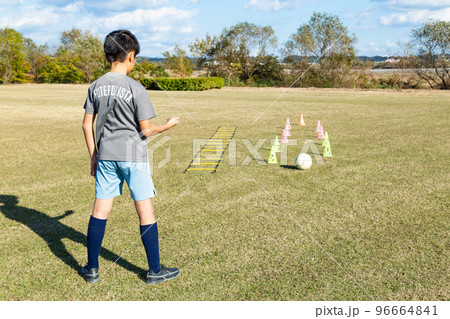
[[[155,82],[156,81],[156,82]],[[165,91],[203,91],[220,89],[224,86],[223,78],[155,78],[141,79],[141,84],[148,90]]]

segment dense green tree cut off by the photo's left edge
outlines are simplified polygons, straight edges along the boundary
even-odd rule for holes
[[[0,77],[4,84],[28,82],[25,44],[22,34],[11,28],[0,29]]]

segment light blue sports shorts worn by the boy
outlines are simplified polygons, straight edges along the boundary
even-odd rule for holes
[[[95,176],[95,198],[111,199],[122,195],[124,180],[134,201],[155,197],[156,190],[148,162],[99,160]]]

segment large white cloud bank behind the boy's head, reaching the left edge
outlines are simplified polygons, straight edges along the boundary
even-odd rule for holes
[[[14,28],[36,43],[48,43],[52,48],[59,45],[60,33],[72,27],[89,30],[101,39],[114,29],[126,28],[136,34],[142,44],[142,54],[147,56],[160,56],[160,50],[168,50],[174,43],[185,45],[190,35],[198,31],[194,21],[198,14],[196,10],[158,7],[166,3],[166,0],[146,1],[146,5],[155,5],[150,9],[146,9],[144,5],[140,9],[102,13],[95,10],[98,1],[77,2],[83,8],[87,6],[92,15],[86,14],[76,3],[70,1],[52,1],[51,5],[24,1],[24,4],[17,5],[19,1],[11,0],[1,8],[0,27]],[[114,2],[119,3],[118,0],[113,0],[108,6]],[[136,1],[133,2],[136,4]]]

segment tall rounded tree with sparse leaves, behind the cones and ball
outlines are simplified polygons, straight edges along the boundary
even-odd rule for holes
[[[318,77],[316,85],[339,86],[351,70],[356,42],[335,15],[314,12],[308,23],[301,25],[285,44],[285,55],[300,75],[310,70]],[[299,61],[290,57],[297,55]],[[311,58],[317,67],[311,67]]]

